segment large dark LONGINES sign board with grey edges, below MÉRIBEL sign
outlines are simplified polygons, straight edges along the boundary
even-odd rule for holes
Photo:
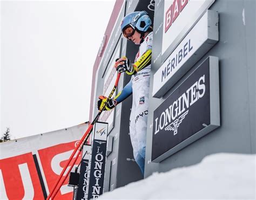
[[[151,160],[160,162],[219,126],[218,58],[210,56],[154,111]]]

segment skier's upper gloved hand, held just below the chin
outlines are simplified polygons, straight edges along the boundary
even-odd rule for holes
[[[126,57],[117,59],[114,67],[119,73],[126,72],[128,75],[136,74],[137,72],[136,66]]]

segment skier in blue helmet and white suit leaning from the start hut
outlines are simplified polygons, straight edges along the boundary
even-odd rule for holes
[[[132,97],[132,111],[130,115],[130,137],[133,156],[144,175],[147,114],[149,107],[149,85],[153,29],[147,12],[136,11],[125,16],[121,22],[121,30],[126,39],[140,45],[134,63],[126,57],[117,59],[114,67],[119,73],[132,75],[130,82],[117,96],[110,99],[105,110],[116,107],[117,104]],[[99,96],[98,109],[102,109],[106,102],[105,96]]]

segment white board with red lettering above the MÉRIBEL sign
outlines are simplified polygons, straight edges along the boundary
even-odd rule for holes
[[[162,55],[169,46],[175,47],[178,44],[179,40],[185,36],[186,32],[214,1],[166,0],[164,2]]]

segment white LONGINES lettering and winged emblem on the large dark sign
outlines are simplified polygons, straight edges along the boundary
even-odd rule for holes
[[[178,127],[188,114],[188,108],[196,103],[205,94],[205,75],[201,76],[190,88],[174,101],[160,117],[154,119],[156,135],[160,130],[173,130],[173,135],[178,133]]]

